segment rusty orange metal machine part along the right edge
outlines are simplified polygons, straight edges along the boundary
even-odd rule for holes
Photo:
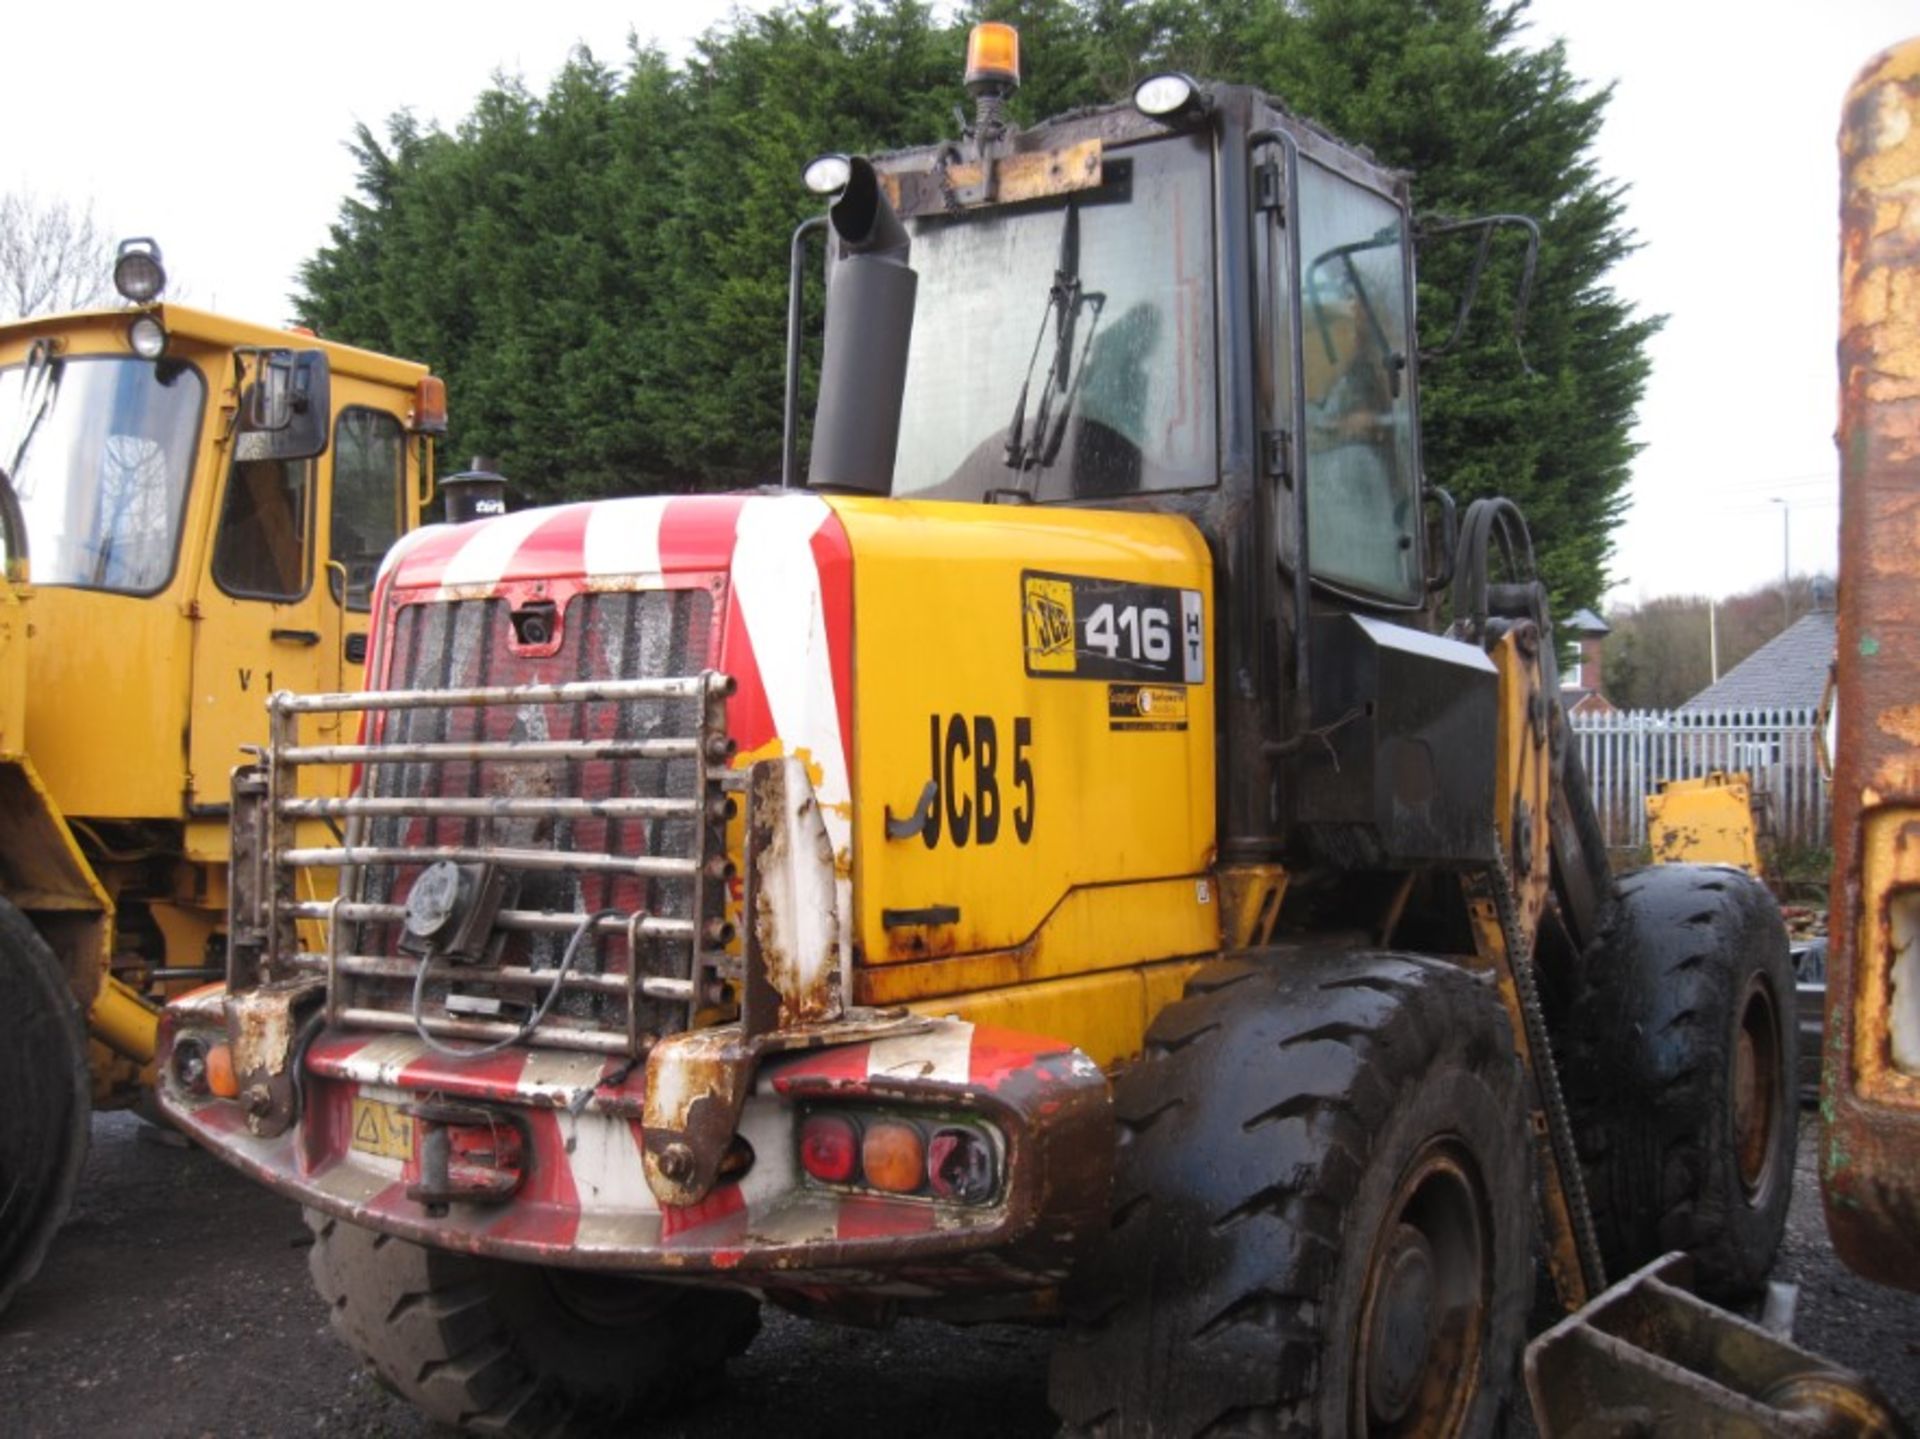
[[[1820,1176],[1834,1247],[1920,1289],[1920,40],[1847,92],[1841,154],[1839,622]],[[1907,961],[1903,968],[1903,957]],[[1901,993],[1907,980],[1908,993]],[[1907,1055],[1912,1059],[1912,1055]]]

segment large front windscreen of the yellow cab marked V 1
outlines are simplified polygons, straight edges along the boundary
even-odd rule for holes
[[[204,402],[200,373],[169,359],[0,371],[0,467],[35,584],[152,594],[169,580]]]

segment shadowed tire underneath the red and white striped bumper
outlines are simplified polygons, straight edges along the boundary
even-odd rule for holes
[[[428,1418],[561,1435],[712,1393],[758,1301],[426,1249],[307,1210],[334,1333]]]

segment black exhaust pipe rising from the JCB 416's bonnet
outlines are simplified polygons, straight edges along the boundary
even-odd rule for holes
[[[906,227],[864,159],[828,209],[837,263],[828,284],[828,334],[806,482],[893,492],[906,394],[906,342],[920,277],[906,263]]]

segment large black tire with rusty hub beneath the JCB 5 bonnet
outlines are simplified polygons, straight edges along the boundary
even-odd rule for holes
[[[1068,1433],[1496,1429],[1532,1189],[1490,986],[1409,955],[1210,964],[1116,1116],[1112,1230],[1054,1351]],[[1434,1306],[1436,1285],[1461,1303]]]

